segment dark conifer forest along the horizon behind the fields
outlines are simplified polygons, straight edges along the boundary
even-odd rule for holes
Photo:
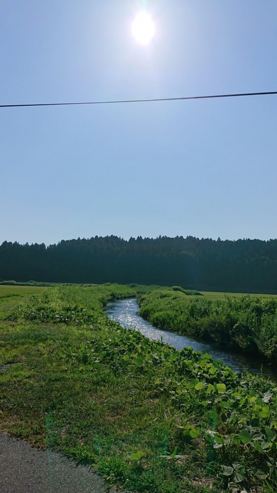
[[[62,240],[46,247],[4,241],[0,280],[139,283],[185,289],[277,293],[277,239],[217,240],[117,236]]]

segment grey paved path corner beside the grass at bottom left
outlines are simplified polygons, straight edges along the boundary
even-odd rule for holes
[[[1,493],[104,493],[103,480],[88,467],[50,450],[37,450],[0,433]],[[109,490],[115,493],[114,489]]]

